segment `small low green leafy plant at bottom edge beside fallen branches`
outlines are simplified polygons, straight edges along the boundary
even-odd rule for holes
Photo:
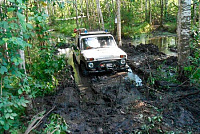
[[[52,114],[49,118],[49,122],[50,123],[46,124],[46,128],[44,129],[45,134],[65,134],[70,132],[65,119],[58,114]]]

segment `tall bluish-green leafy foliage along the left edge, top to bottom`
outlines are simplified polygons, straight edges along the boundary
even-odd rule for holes
[[[29,103],[23,96],[30,94],[28,84],[29,77],[25,75],[19,65],[23,62],[18,50],[25,50],[31,45],[24,40],[28,38],[27,23],[25,15],[22,14],[24,6],[22,1],[16,3],[19,10],[14,7],[8,8],[8,12],[15,13],[16,16],[3,13],[7,18],[0,22],[0,76],[1,76],[1,96],[0,96],[0,133],[18,128],[20,116],[24,114],[25,107]],[[12,5],[12,4],[11,4]],[[2,19],[2,18],[1,18]],[[29,24],[30,25],[30,24]]]

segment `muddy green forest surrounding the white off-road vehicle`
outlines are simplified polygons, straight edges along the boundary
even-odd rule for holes
[[[0,19],[0,133],[200,133],[200,1],[0,0]],[[78,28],[114,35],[141,86],[79,74]]]

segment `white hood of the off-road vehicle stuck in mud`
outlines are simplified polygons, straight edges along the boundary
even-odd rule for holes
[[[120,55],[127,57],[127,54],[118,47],[88,49],[81,53],[85,58],[94,58],[95,61],[120,59]]]

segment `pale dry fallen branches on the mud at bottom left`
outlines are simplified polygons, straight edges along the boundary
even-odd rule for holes
[[[51,110],[49,110],[49,112],[47,112],[45,115],[43,115],[41,117],[40,117],[40,114],[43,113],[44,111],[38,113],[35,116],[35,119],[33,120],[33,122],[28,126],[28,128],[26,129],[24,134],[29,134],[33,129],[38,127],[42,123],[42,120],[44,119],[44,117],[46,117],[51,111],[53,111],[54,108],[55,108],[55,106]]]

